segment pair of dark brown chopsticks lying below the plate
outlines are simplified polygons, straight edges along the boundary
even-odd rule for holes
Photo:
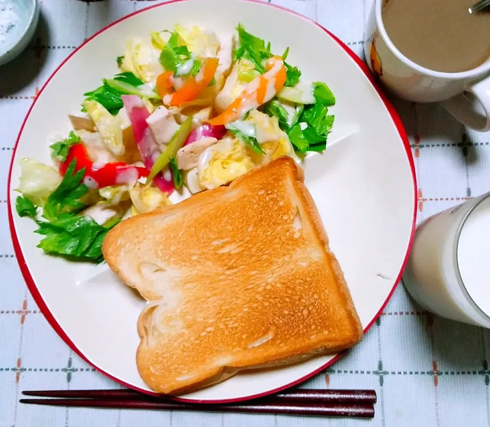
[[[22,394],[47,399],[20,399],[20,403],[64,407],[152,409],[178,411],[235,412],[255,414],[315,415],[330,417],[374,417],[374,390],[293,389],[246,404],[187,404],[166,396],[155,397],[135,390],[33,390]]]

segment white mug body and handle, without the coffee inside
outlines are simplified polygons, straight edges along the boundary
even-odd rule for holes
[[[366,62],[375,76],[391,92],[407,101],[440,101],[461,123],[477,131],[489,131],[490,58],[462,72],[433,71],[414,63],[395,47],[386,33],[381,15],[384,2],[374,1],[364,33]],[[476,96],[484,113],[475,109],[466,92]]]

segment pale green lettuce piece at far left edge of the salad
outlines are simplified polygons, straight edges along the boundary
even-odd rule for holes
[[[44,206],[50,194],[60,185],[61,176],[53,166],[31,158],[20,159],[20,183],[15,191],[37,206]]]

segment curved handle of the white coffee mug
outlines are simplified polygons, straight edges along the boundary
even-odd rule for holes
[[[490,131],[490,77],[468,85],[465,90],[478,98],[486,115],[475,111],[473,103],[463,93],[442,101],[442,106],[469,128],[479,132]]]

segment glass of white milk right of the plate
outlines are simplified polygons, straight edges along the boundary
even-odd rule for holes
[[[428,311],[490,328],[490,192],[419,226],[403,283]]]

